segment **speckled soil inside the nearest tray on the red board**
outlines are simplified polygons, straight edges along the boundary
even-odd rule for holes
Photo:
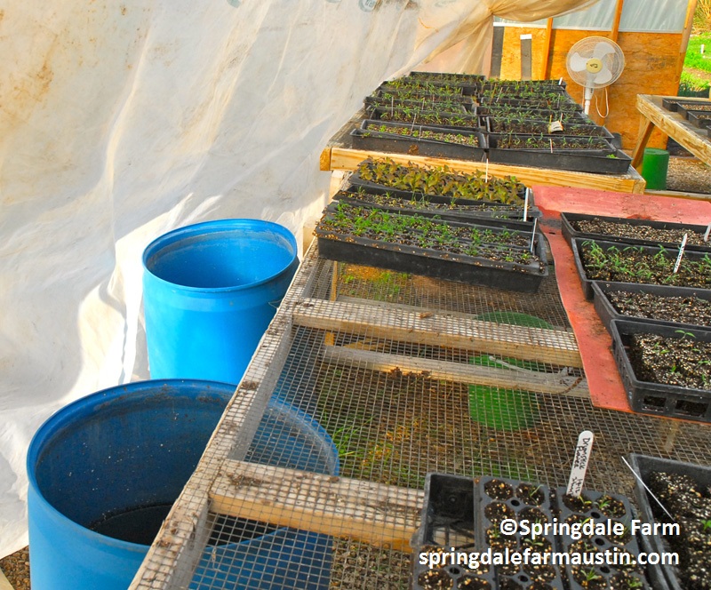
[[[711,391],[711,343],[679,332],[679,338],[632,335],[628,355],[635,376],[652,383]]]

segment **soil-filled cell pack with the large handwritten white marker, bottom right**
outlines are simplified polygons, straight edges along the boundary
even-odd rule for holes
[[[635,565],[640,547],[630,529],[635,514],[627,498],[592,490],[583,490],[579,496],[569,496],[564,487],[556,490],[555,497],[559,522],[582,527],[590,521],[605,529],[592,535],[586,535],[581,530],[580,538],[561,535],[563,552],[597,554],[609,550],[617,553],[619,562],[617,566],[607,562],[601,566],[567,565],[565,570],[571,590],[650,587],[643,569]]]

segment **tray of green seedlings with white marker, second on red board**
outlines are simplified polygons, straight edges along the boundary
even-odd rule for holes
[[[571,245],[587,299],[593,299],[593,281],[711,289],[709,252],[685,251],[675,273],[676,249],[585,238],[572,238]]]

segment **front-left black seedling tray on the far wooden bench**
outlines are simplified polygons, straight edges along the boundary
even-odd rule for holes
[[[356,149],[402,154],[452,157],[481,162],[486,140],[482,133],[464,129],[387,123],[365,119],[359,129],[351,132]]]

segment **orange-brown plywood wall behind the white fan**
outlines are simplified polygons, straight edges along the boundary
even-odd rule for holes
[[[506,27],[504,50],[501,60],[501,77],[518,79],[521,77],[520,36],[532,36],[533,77],[557,79],[563,77],[568,83],[568,92],[582,103],[583,89],[571,81],[565,68],[565,58],[571,46],[586,36],[608,36],[597,31],[553,29],[547,64],[547,35],[545,28]],[[606,112],[604,91],[595,92],[590,116],[596,123],[604,124],[611,132],[622,135],[623,147],[635,147],[639,131],[640,117],[635,108],[637,94],[675,95],[679,87],[679,76],[683,65],[681,33],[620,33],[618,44],[625,53],[626,66],[619,80],[608,86],[610,114],[606,119],[598,116],[598,108]],[[544,68],[547,66],[547,68]],[[664,148],[667,138],[655,131],[647,144],[651,148]]]

